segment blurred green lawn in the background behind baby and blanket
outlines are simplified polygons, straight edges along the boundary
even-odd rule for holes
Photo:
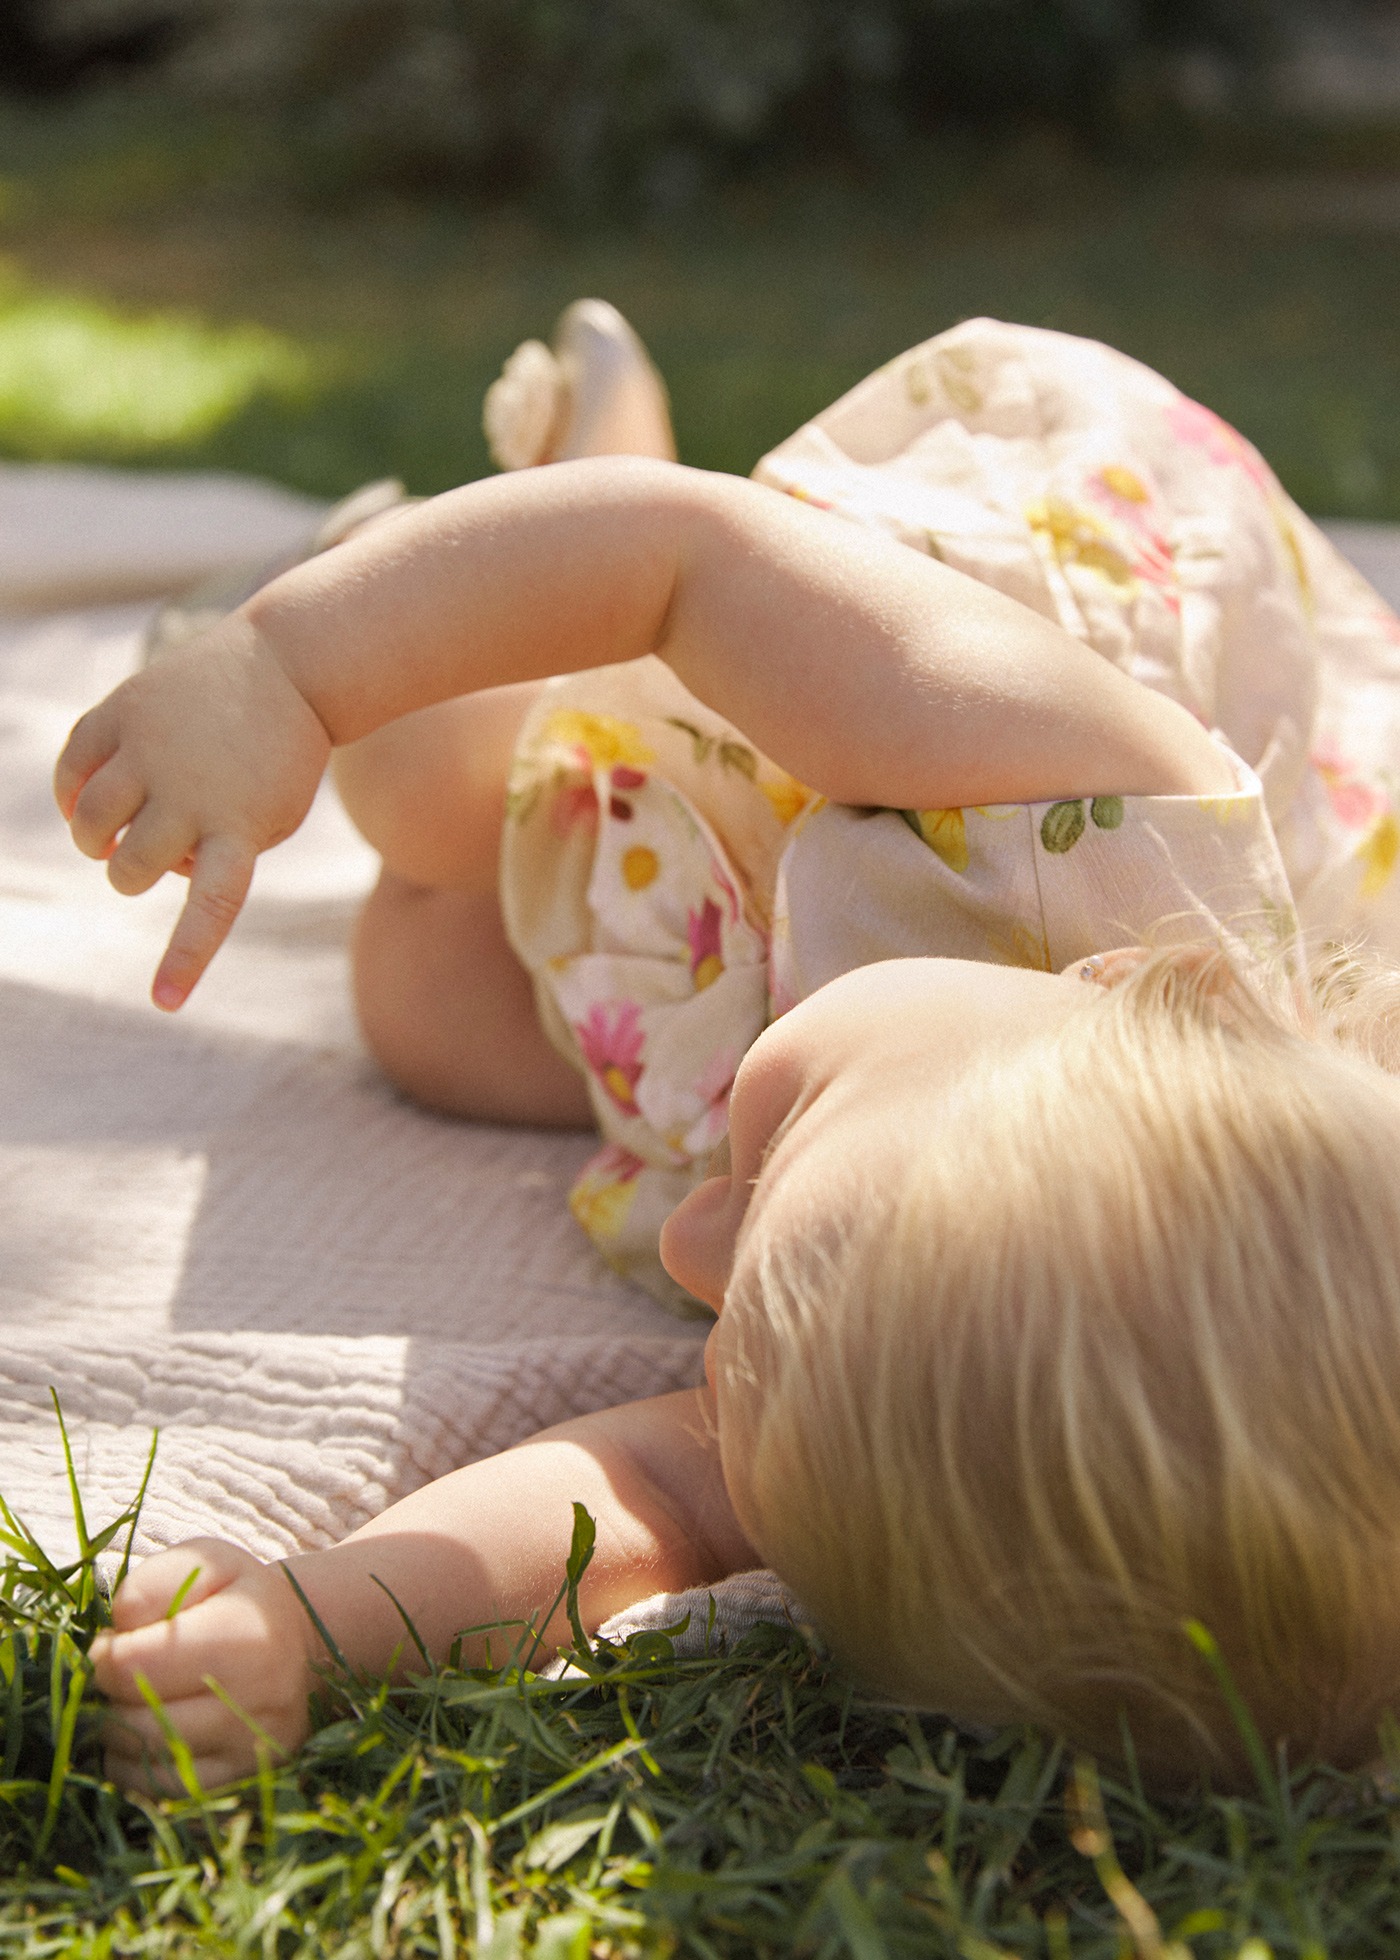
[[[480,394],[510,347],[598,292],[655,347],[706,466],[751,468],[876,363],[990,312],[1159,367],[1310,510],[1400,519],[1400,251],[1375,192],[1333,172],[1318,198],[1276,161],[1110,167],[1039,137],[580,229],[314,204],[247,133],[151,104],[12,108],[0,453],[439,490],[488,466]]]

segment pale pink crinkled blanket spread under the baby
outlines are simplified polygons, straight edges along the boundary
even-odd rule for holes
[[[176,1019],[147,1000],[175,880],[122,900],[67,839],[53,759],[151,598],[318,515],[229,478],[0,468],[0,1494],[53,1550],[51,1390],[90,1523],[159,1429],[137,1548],[212,1531],[282,1556],[700,1376],[704,1329],[565,1211],[588,1137],[427,1115],[363,1053],[343,947],[375,866],[329,792]]]

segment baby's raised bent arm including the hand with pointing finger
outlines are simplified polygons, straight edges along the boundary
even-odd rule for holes
[[[733,476],[594,459],[469,484],[275,580],[84,715],[55,788],[118,890],[190,872],[155,986],[178,1005],[331,743],[651,651],[839,802],[1233,786],[1182,708],[988,586]]]

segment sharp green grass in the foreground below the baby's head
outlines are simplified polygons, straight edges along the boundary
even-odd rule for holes
[[[65,1445],[67,1446],[67,1445]],[[247,1786],[102,1782],[94,1560],[4,1513],[0,1954],[1363,1960],[1400,1942],[1400,1811],[1375,1778],[1263,1764],[1255,1799],[1153,1803],[1031,1731],[863,1701],[798,1635],[584,1678],[331,1678],[300,1760]],[[135,1507],[133,1507],[135,1509]],[[578,1578],[578,1558],[573,1582]]]

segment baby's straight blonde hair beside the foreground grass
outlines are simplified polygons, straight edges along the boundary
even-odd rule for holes
[[[1400,976],[1153,956],[939,1092],[718,1335],[739,1517],[875,1690],[1245,1776],[1400,1699]],[[1380,1066],[1378,1066],[1380,1064]]]

